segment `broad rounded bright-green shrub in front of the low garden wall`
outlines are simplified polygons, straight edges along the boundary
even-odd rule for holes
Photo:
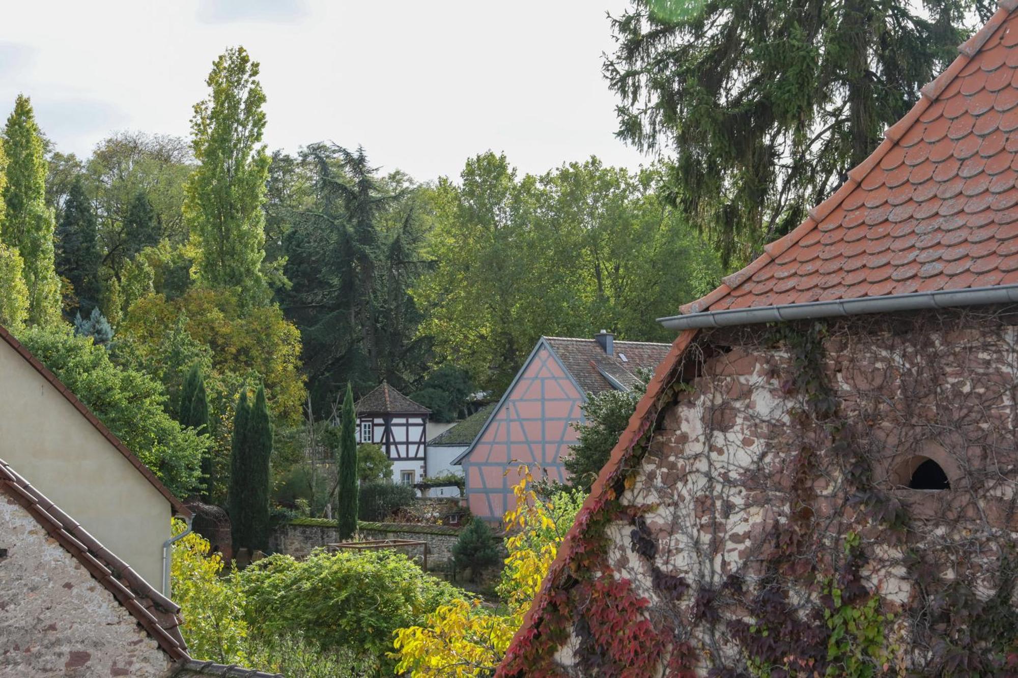
[[[275,555],[232,578],[244,616],[259,633],[302,631],[326,651],[382,657],[397,628],[420,624],[440,605],[463,597],[393,551],[315,551],[303,561]]]

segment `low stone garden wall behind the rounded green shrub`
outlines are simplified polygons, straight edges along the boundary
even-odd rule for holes
[[[358,533],[364,540],[412,540],[428,545],[428,567],[445,566],[452,559],[452,547],[459,539],[459,528],[446,525],[417,525],[397,522],[361,522]],[[294,558],[305,558],[312,551],[339,542],[334,520],[296,518],[274,530],[270,548]],[[419,558],[421,547],[402,549]]]

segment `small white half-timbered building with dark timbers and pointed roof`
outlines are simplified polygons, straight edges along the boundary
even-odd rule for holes
[[[382,382],[357,401],[357,442],[382,447],[393,462],[395,483],[420,483],[427,472],[431,413],[432,410]]]

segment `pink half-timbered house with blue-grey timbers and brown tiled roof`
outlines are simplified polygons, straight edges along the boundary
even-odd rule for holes
[[[595,339],[542,337],[473,443],[453,462],[463,466],[471,513],[502,518],[517,481],[511,469],[519,463],[564,482],[562,457],[576,442],[571,425],[583,420],[580,406],[587,396],[628,390],[636,371],[656,368],[669,346],[615,341],[604,330]]]

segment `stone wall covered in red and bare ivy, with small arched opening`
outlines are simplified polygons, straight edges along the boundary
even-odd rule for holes
[[[702,333],[501,675],[1018,675],[1015,323]]]

